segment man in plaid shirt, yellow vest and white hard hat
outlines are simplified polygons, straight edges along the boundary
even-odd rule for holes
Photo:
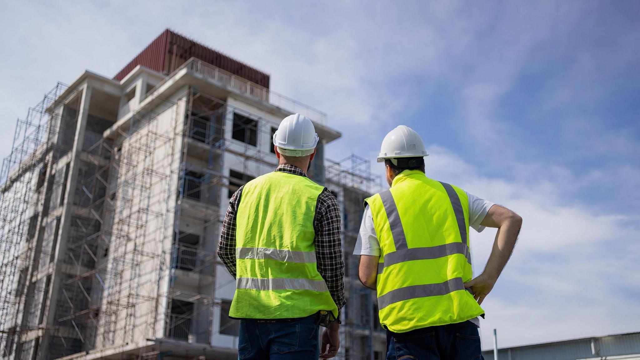
[[[337,354],[346,303],[340,208],[307,177],[318,141],[308,117],[286,117],[273,135],[278,167],[229,201],[218,254],[236,278],[229,316],[240,319],[239,359]]]

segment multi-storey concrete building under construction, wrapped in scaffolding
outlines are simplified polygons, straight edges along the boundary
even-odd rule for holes
[[[326,114],[269,90],[264,72],[164,31],[114,78],[84,71],[18,120],[0,178],[1,359],[236,359],[235,281],[221,215],[270,172],[291,113],[321,138],[309,176],[343,211],[339,359],[383,359],[374,293],[351,253],[369,161],[324,159]]]

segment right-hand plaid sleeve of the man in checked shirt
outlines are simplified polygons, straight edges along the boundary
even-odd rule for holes
[[[344,297],[344,263],[342,262],[342,241],[340,240],[340,206],[335,196],[327,190],[320,194],[316,205],[316,259],[317,270],[326,282],[333,301],[340,309],[346,304]]]

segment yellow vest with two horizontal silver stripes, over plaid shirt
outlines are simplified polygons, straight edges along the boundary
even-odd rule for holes
[[[317,271],[314,217],[324,187],[270,172],[244,185],[236,215],[232,318],[302,318],[338,307]]]

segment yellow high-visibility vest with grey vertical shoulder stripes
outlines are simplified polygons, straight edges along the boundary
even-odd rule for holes
[[[467,193],[419,170],[365,199],[380,241],[378,311],[393,332],[458,323],[484,313],[472,278]]]

